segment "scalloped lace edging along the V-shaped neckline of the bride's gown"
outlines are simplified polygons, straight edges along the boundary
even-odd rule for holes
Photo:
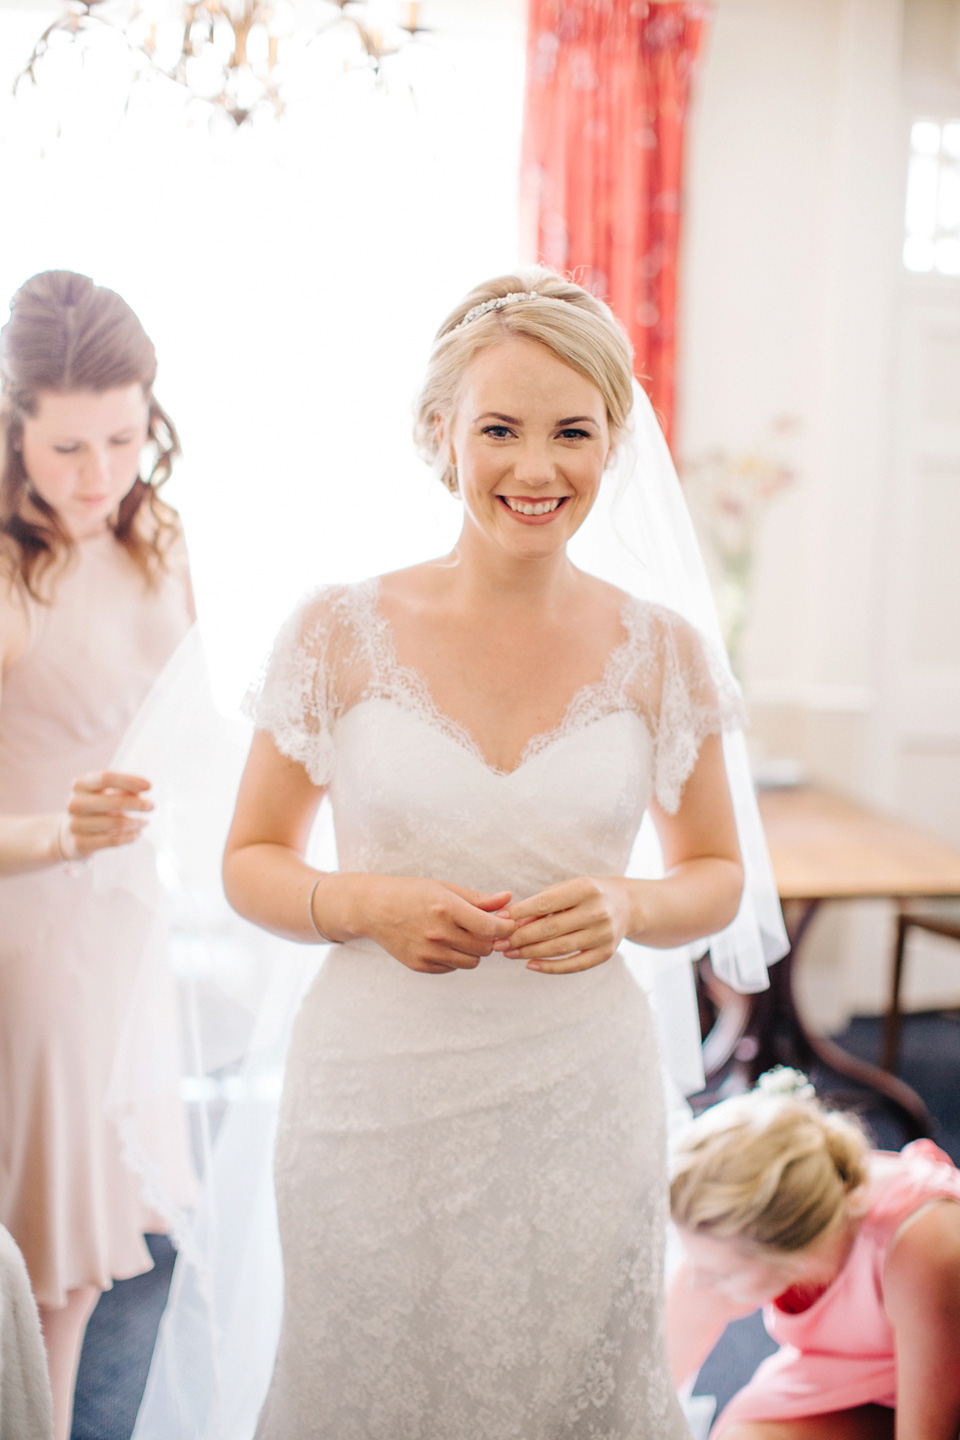
[[[361,582],[361,585],[364,582]],[[384,613],[380,605],[380,576],[379,575],[371,576],[366,582],[366,588],[368,589],[368,608],[370,608],[371,625],[379,634],[384,651],[389,657],[390,672],[393,674],[394,678],[399,678],[402,681],[402,684],[397,687],[397,693],[403,694],[406,690],[419,703],[419,706],[417,704],[409,706],[409,710],[417,713],[419,707],[422,707],[422,710],[426,713],[425,719],[430,720],[435,729],[440,730],[443,734],[448,734],[463,750],[466,750],[476,760],[479,760],[479,763],[484,766],[485,770],[489,770],[491,775],[495,775],[499,779],[508,779],[511,775],[517,775],[518,770],[521,770],[537,755],[551,749],[553,744],[556,744],[556,742],[560,740],[567,732],[574,733],[576,730],[584,729],[586,724],[590,723],[587,720],[586,724],[583,721],[580,724],[573,724],[571,717],[574,716],[574,711],[577,708],[586,704],[589,697],[594,694],[600,696],[610,685],[617,664],[629,652],[635,641],[633,603],[632,603],[632,596],[628,595],[620,608],[620,624],[623,625],[625,635],[623,639],[619,641],[616,645],[613,645],[612,649],[607,652],[606,661],[603,662],[603,672],[600,678],[589,681],[584,685],[579,685],[577,690],[574,690],[574,693],[571,694],[567,704],[564,706],[563,713],[560,719],[556,721],[556,724],[548,726],[545,730],[537,730],[534,734],[531,734],[530,739],[524,742],[517,763],[512,765],[510,769],[502,769],[499,765],[491,763],[491,760],[486,757],[484,752],[484,747],[481,746],[476,736],[468,726],[465,726],[461,720],[453,719],[453,716],[448,714],[438,706],[436,700],[433,698],[433,693],[430,690],[425,671],[422,671],[416,665],[404,665],[400,662],[393,622]],[[381,698],[389,698],[389,697],[384,696]],[[628,706],[623,706],[622,710],[625,713],[633,713]],[[617,711],[613,710],[610,713],[617,713]],[[590,719],[603,719],[603,717],[593,716]]]

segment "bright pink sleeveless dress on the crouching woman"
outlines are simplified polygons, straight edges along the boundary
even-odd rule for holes
[[[856,1405],[897,1404],[894,1332],[884,1309],[884,1263],[894,1236],[936,1200],[960,1201],[960,1171],[933,1140],[914,1140],[878,1184],[836,1280],[799,1315],[776,1302],[763,1322],[780,1349],[723,1411],[710,1440],[747,1420],[799,1420]]]

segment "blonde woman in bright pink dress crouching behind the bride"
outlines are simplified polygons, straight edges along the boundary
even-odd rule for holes
[[[711,1440],[957,1440],[960,1172],[943,1151],[872,1151],[774,1070],[682,1130],[672,1174],[675,1382],[759,1306],[780,1345]]]

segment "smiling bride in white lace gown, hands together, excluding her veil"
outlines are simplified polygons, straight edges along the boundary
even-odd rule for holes
[[[691,625],[567,556],[632,403],[600,301],[545,271],[474,289],[417,415],[453,552],[311,595],[253,697],[227,897],[332,945],[286,1067],[258,1440],[688,1434],[658,1047],[617,948],[737,914],[741,717]],[[335,873],[304,860],[325,793]],[[648,811],[658,880],[625,876]]]

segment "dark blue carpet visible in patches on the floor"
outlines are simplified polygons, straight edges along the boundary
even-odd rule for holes
[[[853,1020],[836,1038],[864,1060],[878,1060],[881,1021]],[[900,1076],[924,1097],[940,1125],[937,1143],[960,1165],[960,1012],[905,1018]],[[905,1138],[889,1116],[866,1103],[861,1113],[878,1145],[900,1149]],[[72,1440],[130,1440],[173,1270],[170,1241],[150,1236],[148,1244],[155,1269],[119,1280],[91,1319]],[[699,1372],[697,1394],[717,1395],[723,1407],[773,1348],[759,1313],[730,1325]]]

